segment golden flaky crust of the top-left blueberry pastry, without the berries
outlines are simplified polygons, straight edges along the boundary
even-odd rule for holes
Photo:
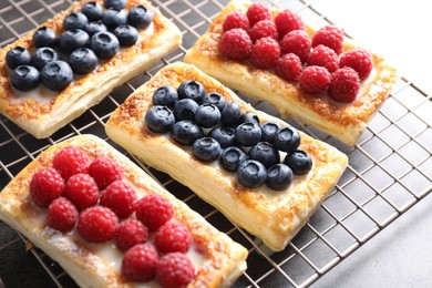
[[[63,31],[63,19],[72,11],[80,11],[90,0],[74,2],[42,25],[53,29],[59,35]],[[97,0],[103,4],[103,0]],[[34,51],[33,31],[0,50],[0,112],[38,138],[48,137],[68,124],[89,107],[97,104],[115,86],[148,69],[154,62],[177,49],[182,42],[178,28],[146,0],[128,0],[126,9],[143,4],[154,13],[153,23],[140,30],[140,39],[131,48],[121,51],[109,61],[101,63],[85,76],[74,81],[60,93],[37,89],[42,100],[34,100],[32,92],[18,92],[9,81],[10,71],[6,53],[17,45]]]

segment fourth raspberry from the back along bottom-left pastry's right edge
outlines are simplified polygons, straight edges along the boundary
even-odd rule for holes
[[[173,217],[174,208],[168,199],[153,194],[144,196],[136,203],[135,214],[138,220],[154,232]]]

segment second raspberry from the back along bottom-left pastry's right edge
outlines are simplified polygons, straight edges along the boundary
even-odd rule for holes
[[[110,157],[97,157],[89,167],[89,174],[96,181],[101,191],[114,181],[123,177],[123,171],[115,161]]]

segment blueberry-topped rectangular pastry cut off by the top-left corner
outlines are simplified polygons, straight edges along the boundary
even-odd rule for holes
[[[146,0],[74,2],[0,50],[0,112],[47,137],[181,41]]]

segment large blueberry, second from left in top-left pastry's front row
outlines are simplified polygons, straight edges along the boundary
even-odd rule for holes
[[[73,79],[71,66],[64,61],[51,61],[41,71],[42,85],[53,91],[62,91]]]

